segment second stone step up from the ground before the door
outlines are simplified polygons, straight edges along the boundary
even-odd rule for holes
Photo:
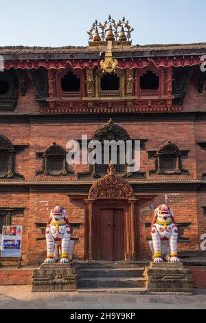
[[[81,278],[78,289],[145,288],[144,278]]]

